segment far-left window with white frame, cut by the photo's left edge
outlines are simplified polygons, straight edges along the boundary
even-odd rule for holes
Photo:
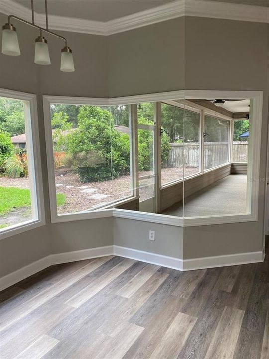
[[[31,121],[35,96],[0,92],[14,96],[0,97],[0,233],[4,235],[43,224],[43,201],[37,121]]]

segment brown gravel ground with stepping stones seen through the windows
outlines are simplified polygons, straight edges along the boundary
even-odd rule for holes
[[[185,168],[184,174],[189,176],[197,173],[196,168]],[[151,174],[150,171],[139,172],[139,176]],[[178,178],[182,178],[182,168],[162,169],[162,182],[168,183]],[[58,213],[76,213],[105,203],[118,200],[131,195],[130,175],[120,176],[114,180],[105,182],[81,183],[77,174],[68,169],[57,169],[55,171],[56,192],[66,196],[64,205],[58,208]],[[151,194],[152,181],[149,179],[141,181],[143,189],[141,196],[148,198]],[[0,186],[29,188],[28,178],[8,178],[0,177]]]

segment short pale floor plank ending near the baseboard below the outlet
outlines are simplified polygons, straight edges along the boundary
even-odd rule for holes
[[[130,298],[134,293],[159,269],[159,266],[147,264],[139,273],[137,273],[126,285],[116,292],[116,294]]]

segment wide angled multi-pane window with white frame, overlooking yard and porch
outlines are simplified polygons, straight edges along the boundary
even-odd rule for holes
[[[176,217],[201,218],[202,224],[255,218],[257,185],[248,176],[258,173],[257,123],[250,120],[251,146],[238,161],[233,140],[245,145],[248,123],[240,116],[260,121],[261,95],[244,100],[243,112],[238,92],[222,108],[211,93],[209,99],[163,96],[121,98],[122,105],[117,99],[78,98],[70,105],[76,98],[44,98],[52,221],[131,218],[132,211],[144,212],[134,215],[141,220],[156,213],[163,223],[160,214],[170,215],[175,225]]]

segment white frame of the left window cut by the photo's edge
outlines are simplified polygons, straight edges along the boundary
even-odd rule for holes
[[[0,88],[0,97],[26,102],[24,103],[24,120],[27,137],[27,152],[28,154],[31,154],[28,156],[28,168],[29,173],[31,174],[30,193],[33,215],[33,219],[0,229],[0,239],[4,239],[44,225],[45,210],[36,95]]]

